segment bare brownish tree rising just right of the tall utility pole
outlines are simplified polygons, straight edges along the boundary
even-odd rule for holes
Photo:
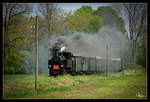
[[[59,34],[62,29],[62,19],[61,19],[61,10],[58,8],[55,3],[40,3],[38,5],[38,10],[42,14],[42,17],[39,19],[39,26],[46,28],[44,31],[49,34]],[[40,28],[41,28],[40,27]]]

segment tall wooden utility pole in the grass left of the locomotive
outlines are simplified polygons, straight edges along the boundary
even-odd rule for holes
[[[35,66],[35,89],[38,88],[38,16],[35,21],[35,48],[36,48],[36,66]]]

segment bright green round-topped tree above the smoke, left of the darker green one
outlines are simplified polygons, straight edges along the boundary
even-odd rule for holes
[[[93,15],[90,6],[82,6],[67,16],[65,26],[72,31],[97,32],[103,26],[103,21],[100,17]]]

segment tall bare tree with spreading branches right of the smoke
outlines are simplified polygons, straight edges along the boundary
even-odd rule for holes
[[[136,43],[142,35],[142,29],[146,24],[146,4],[124,3],[115,4],[113,7],[119,14],[126,17],[128,22],[128,40],[131,47],[131,63],[136,64]]]

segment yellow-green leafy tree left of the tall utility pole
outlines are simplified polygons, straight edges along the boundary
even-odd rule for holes
[[[9,30],[9,46],[5,47],[5,69],[23,68],[24,58],[28,55],[33,47],[33,34],[30,30],[30,18],[24,15],[16,15],[11,19],[12,25],[8,27]],[[22,26],[24,25],[24,26]],[[17,39],[21,38],[21,39]],[[14,40],[13,40],[14,39]],[[9,64],[10,63],[10,64]],[[16,64],[17,63],[17,64]]]

